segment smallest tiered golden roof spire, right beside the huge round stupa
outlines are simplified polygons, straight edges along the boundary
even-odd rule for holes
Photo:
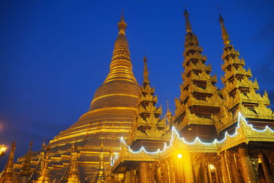
[[[160,119],[162,115],[162,106],[156,106],[158,102],[157,95],[154,95],[155,88],[151,88],[149,82],[149,71],[147,69],[147,57],[144,59],[144,81],[140,87],[137,111],[134,116],[134,125],[129,144],[132,149],[147,147],[155,150],[163,147],[164,141],[169,141],[166,134],[166,120]]]

